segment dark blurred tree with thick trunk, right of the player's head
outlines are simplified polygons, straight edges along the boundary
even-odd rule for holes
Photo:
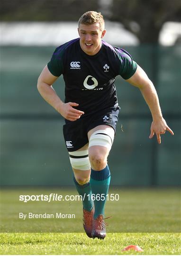
[[[181,0],[111,0],[112,15],[134,33],[140,43],[157,44],[166,21],[181,21]]]

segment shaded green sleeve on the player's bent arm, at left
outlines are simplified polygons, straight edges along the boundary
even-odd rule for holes
[[[63,54],[64,50],[59,46],[54,51],[51,60],[47,64],[50,73],[54,76],[60,76],[63,73]]]

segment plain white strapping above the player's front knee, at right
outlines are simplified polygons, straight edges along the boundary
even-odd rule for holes
[[[111,149],[113,144],[115,131],[114,129],[97,130],[92,133],[89,140],[90,146],[105,146]]]

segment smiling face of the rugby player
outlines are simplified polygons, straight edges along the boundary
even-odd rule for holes
[[[81,49],[88,55],[95,55],[101,48],[101,38],[106,30],[100,30],[100,23],[80,24],[78,27]]]

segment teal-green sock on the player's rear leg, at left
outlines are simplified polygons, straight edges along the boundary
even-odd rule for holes
[[[94,202],[91,200],[91,189],[90,189],[90,182],[80,185],[75,177],[73,177],[73,181],[75,183],[75,187],[79,193],[79,195],[82,196],[82,204],[83,204],[83,209],[91,211]],[[83,200],[84,199],[84,200]]]

